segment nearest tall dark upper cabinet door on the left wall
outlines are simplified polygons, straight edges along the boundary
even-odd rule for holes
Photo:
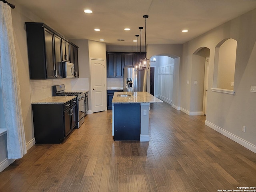
[[[53,33],[46,28],[44,29],[45,51],[46,51],[46,78],[55,78],[54,67],[54,36]]]

